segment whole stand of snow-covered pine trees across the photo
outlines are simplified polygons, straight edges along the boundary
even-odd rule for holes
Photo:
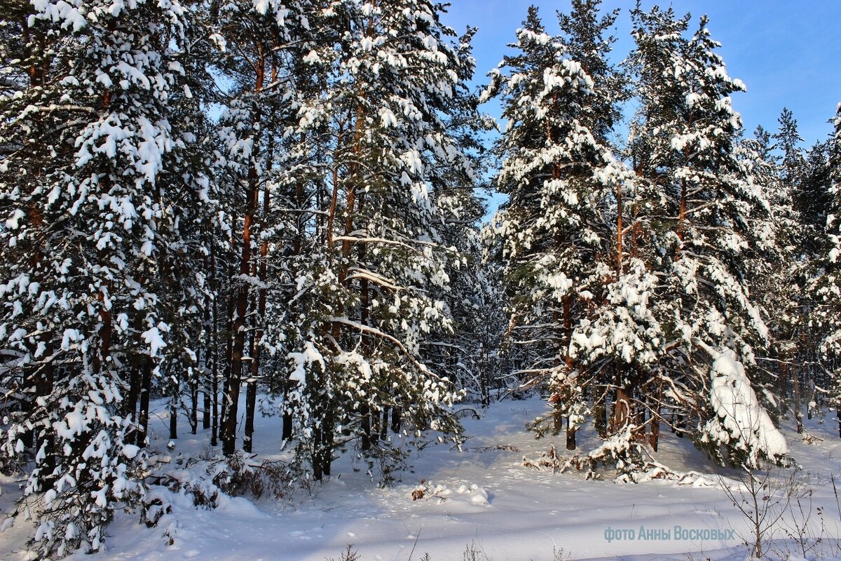
[[[0,469],[41,554],[145,504],[153,400],[234,470],[277,415],[290,484],[528,392],[631,477],[662,431],[756,467],[838,411],[841,114],[746,134],[706,19],[637,6],[613,65],[600,0],[473,92],[445,9],[0,2]]]

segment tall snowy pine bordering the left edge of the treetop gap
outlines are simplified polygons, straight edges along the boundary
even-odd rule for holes
[[[509,199],[493,227],[510,304],[509,343],[531,349],[518,372],[523,385],[552,394],[553,415],[538,420],[538,429],[548,424],[557,432],[565,418],[569,449],[590,415],[585,392],[602,389],[590,378],[588,359],[576,362],[570,341],[613,274],[605,212],[627,174],[606,141],[621,87],[602,34],[616,14],[598,19],[598,6],[574,3],[561,18],[561,37],[547,34],[537,8],[529,8],[510,45],[517,54],[492,72],[484,93],[501,97],[508,120],[495,146],[502,160],[495,186]]]

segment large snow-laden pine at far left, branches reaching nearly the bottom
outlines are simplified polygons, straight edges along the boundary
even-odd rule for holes
[[[35,546],[61,556],[98,549],[142,493],[143,408],[161,363],[191,360],[193,224],[212,204],[179,3],[14,8],[0,53],[2,449],[29,475],[24,503],[40,503]]]

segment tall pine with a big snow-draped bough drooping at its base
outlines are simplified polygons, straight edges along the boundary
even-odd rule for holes
[[[774,239],[768,203],[735,150],[741,119],[730,94],[744,86],[727,75],[706,17],[690,36],[689,16],[671,9],[637,5],[632,22],[631,149],[637,180],[659,198],[645,211],[662,278],[654,314],[666,334],[664,399],[694,419],[692,436],[718,461],[780,460],[785,442],[745,371],[754,373],[754,349],[768,340],[746,264]]]

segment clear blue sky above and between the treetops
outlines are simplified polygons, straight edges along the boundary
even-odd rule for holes
[[[451,0],[444,22],[461,33],[468,24],[479,28],[473,41],[478,66],[475,82],[505,55],[514,31],[532,3],[540,8],[543,23],[558,32],[555,11],[568,11],[569,0]],[[622,8],[616,20],[618,39],[614,55],[621,60],[632,48],[630,0],[606,0],[606,10]],[[643,8],[653,2],[646,1]],[[667,7],[669,3],[660,3]],[[679,13],[710,17],[712,37],[722,43],[719,53],[733,77],[748,86],[747,93],[733,96],[745,129],[757,124],[776,130],[783,107],[797,119],[806,146],[823,140],[832,130],[828,119],[841,102],[841,0],[674,0]],[[690,29],[694,24],[690,25]],[[486,108],[498,114],[496,108]]]

